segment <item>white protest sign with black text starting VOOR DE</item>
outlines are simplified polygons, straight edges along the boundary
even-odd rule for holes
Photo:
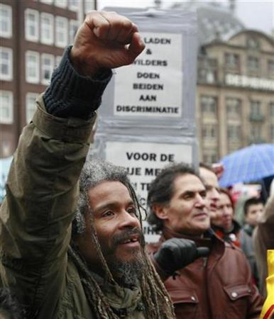
[[[106,142],[106,161],[124,166],[142,206],[146,207],[150,181],[170,162],[192,163],[192,145],[153,142]],[[147,242],[155,242],[158,235],[148,223],[143,223]]]

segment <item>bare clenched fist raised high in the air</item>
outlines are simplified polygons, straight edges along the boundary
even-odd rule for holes
[[[70,61],[79,74],[92,76],[100,69],[130,65],[144,47],[137,26],[128,18],[91,11],[75,35]]]

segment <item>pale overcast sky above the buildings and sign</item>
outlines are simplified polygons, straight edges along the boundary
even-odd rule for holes
[[[177,1],[177,2],[182,2]],[[207,0],[192,0],[204,1]],[[224,5],[228,4],[227,0],[214,0]],[[162,0],[162,7],[168,8],[176,1]],[[98,9],[104,6],[131,6],[141,7],[153,6],[153,0],[97,0]],[[236,16],[243,22],[246,28],[258,29],[268,34],[274,28],[274,0],[236,0]]]

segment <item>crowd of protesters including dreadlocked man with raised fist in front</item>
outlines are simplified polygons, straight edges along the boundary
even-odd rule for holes
[[[170,164],[148,190],[161,236],[146,245],[123,163],[86,161],[111,69],[144,47],[128,18],[92,11],[38,97],[1,205],[0,318],[259,318],[273,196],[248,199],[241,227],[212,167]]]

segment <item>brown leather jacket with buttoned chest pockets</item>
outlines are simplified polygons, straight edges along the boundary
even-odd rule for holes
[[[158,243],[148,245],[151,259],[161,243],[171,237],[175,236],[165,230]],[[262,298],[251,282],[251,270],[243,252],[224,243],[212,230],[194,241],[198,247],[209,247],[209,257],[196,259],[164,282],[175,306],[176,318],[259,318]],[[157,269],[158,265],[155,266]],[[163,272],[158,270],[163,278]]]

